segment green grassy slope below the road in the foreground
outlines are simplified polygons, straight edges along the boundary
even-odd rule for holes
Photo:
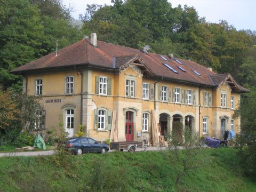
[[[175,188],[170,151],[0,158],[0,191],[256,191],[242,177],[236,149],[203,149],[207,166]]]

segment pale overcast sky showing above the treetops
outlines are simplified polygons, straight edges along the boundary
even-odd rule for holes
[[[208,22],[219,23],[226,20],[237,30],[256,30],[255,9],[256,0],[168,0],[172,7],[179,4],[194,6],[199,17],[205,17]],[[78,14],[85,13],[86,4],[110,5],[111,0],[63,0],[65,5],[71,4],[74,8],[73,17],[78,19]]]

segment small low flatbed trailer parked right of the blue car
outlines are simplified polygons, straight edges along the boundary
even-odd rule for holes
[[[128,150],[130,153],[134,153],[137,148],[146,148],[148,145],[143,141],[118,141],[111,142],[110,149],[116,149],[119,151]]]

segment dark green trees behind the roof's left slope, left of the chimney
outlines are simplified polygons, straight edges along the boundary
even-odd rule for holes
[[[20,81],[10,71],[82,38],[60,0],[0,0],[0,84]]]

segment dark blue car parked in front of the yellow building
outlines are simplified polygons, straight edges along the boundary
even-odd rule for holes
[[[81,155],[83,153],[106,153],[109,147],[92,138],[73,137],[67,141],[66,149],[70,150],[71,153]]]

